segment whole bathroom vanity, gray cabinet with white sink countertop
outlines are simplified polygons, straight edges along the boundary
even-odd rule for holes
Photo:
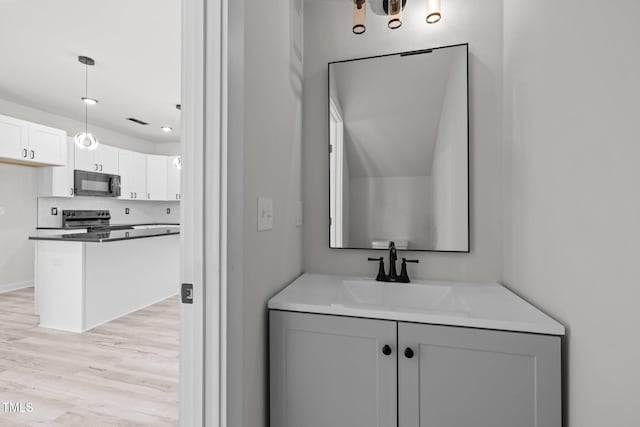
[[[564,327],[498,283],[305,274],[269,301],[272,427],[560,427]]]

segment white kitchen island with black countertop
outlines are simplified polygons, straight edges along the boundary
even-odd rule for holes
[[[177,295],[180,227],[36,232],[40,326],[84,332]]]

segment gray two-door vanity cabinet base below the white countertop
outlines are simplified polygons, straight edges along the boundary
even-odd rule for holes
[[[270,312],[272,427],[561,427],[560,337]]]

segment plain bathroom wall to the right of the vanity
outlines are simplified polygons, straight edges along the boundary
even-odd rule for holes
[[[568,328],[565,426],[637,426],[640,2],[504,3],[504,279]]]

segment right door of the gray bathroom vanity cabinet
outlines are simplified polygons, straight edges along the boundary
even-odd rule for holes
[[[560,337],[399,323],[398,347],[400,427],[562,425]]]

